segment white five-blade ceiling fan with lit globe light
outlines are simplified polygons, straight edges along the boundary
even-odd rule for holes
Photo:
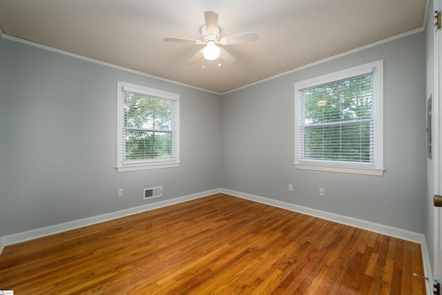
[[[232,63],[236,61],[230,53],[224,48],[220,47],[230,44],[238,44],[242,42],[251,42],[258,39],[258,34],[256,32],[246,32],[243,34],[232,35],[229,37],[220,38],[220,27],[218,26],[218,15],[213,11],[204,12],[204,19],[206,24],[201,28],[201,39],[186,39],[180,37],[164,37],[166,42],[180,42],[180,43],[191,43],[196,45],[205,45],[198,53],[196,53],[187,63],[188,66],[195,64],[195,62],[203,57],[203,68],[204,59],[222,59],[227,63]],[[218,66],[221,66],[218,63]]]

